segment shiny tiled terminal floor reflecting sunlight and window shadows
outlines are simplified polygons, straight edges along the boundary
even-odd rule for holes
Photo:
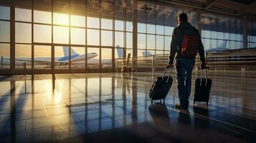
[[[151,104],[160,75],[1,77],[0,142],[256,142],[255,71],[211,71],[209,108],[191,96],[189,112],[174,109],[175,81]]]

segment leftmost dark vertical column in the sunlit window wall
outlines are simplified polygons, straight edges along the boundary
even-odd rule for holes
[[[10,26],[10,69],[11,74],[15,71],[15,0],[11,0],[11,26]]]

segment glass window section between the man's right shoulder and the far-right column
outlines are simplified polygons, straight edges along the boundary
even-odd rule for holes
[[[242,48],[242,19],[202,14],[202,41],[207,51]]]

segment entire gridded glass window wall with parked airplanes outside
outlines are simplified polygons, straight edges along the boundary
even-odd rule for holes
[[[31,69],[32,58],[34,69],[53,68],[52,50],[57,60],[55,69],[112,68],[113,58],[132,54],[132,0],[14,2],[16,69],[22,69],[24,61]],[[193,26],[201,29],[204,48],[208,51],[243,48],[242,19],[238,16],[207,12],[199,15],[193,10],[138,1],[138,56],[169,54],[171,35],[181,11],[188,14]],[[0,1],[1,69],[10,67],[10,26],[9,1]],[[256,21],[247,19],[247,46],[250,48],[256,47],[255,29]],[[46,57],[49,61],[42,63],[41,59]],[[104,64],[105,59],[110,60],[110,64]]]

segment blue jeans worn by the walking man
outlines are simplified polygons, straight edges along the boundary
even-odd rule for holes
[[[191,92],[191,74],[195,59],[176,59],[176,75],[178,82],[179,102],[181,106],[189,106]]]

